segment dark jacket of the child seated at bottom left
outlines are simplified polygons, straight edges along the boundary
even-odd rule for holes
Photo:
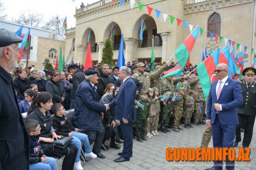
[[[30,136],[30,164],[39,163],[42,161],[41,157],[44,155],[43,149],[38,144],[38,138],[36,136]]]

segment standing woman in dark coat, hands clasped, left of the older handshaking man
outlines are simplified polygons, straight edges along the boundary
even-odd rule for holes
[[[52,95],[52,103],[61,103],[65,107],[66,92],[63,82],[60,81],[60,73],[53,71],[52,78],[46,83],[46,91]]]

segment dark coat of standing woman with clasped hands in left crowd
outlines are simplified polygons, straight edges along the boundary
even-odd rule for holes
[[[60,103],[61,97],[66,97],[66,92],[63,87],[63,82],[59,80],[57,83],[50,79],[46,83],[46,91],[52,95],[52,103]]]

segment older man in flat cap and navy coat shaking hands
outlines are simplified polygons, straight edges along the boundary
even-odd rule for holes
[[[76,128],[86,130],[90,145],[94,142],[93,153],[98,158],[105,158],[101,154],[101,145],[105,135],[105,128],[102,125],[102,112],[109,109],[108,104],[99,103],[97,86],[98,71],[85,70],[85,80],[77,87],[76,106],[73,114],[73,124]]]

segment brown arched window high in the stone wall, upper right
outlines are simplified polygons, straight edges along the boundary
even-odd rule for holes
[[[221,31],[221,18],[217,13],[213,13],[208,20],[208,31],[220,36]],[[207,33],[207,37],[210,37],[210,33]]]

